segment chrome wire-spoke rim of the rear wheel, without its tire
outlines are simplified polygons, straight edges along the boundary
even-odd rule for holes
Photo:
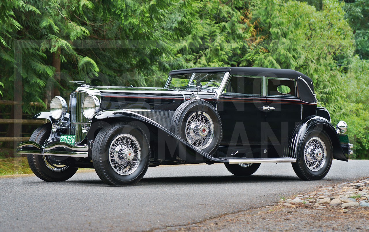
[[[323,140],[318,137],[309,139],[304,149],[304,160],[308,169],[312,171],[320,170],[327,159],[327,149]]]

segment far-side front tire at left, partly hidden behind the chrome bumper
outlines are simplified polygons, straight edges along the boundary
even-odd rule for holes
[[[51,133],[51,124],[47,123],[37,128],[31,135],[30,141],[43,145]],[[65,181],[72,177],[78,167],[66,165],[56,165],[49,159],[49,156],[27,155],[28,165],[32,172],[44,181]]]

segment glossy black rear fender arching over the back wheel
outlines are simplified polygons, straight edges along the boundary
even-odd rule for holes
[[[303,120],[297,127],[293,133],[290,148],[293,157],[296,159],[300,159],[301,149],[303,149],[303,141],[306,136],[306,133],[313,127],[318,126],[321,127],[327,134],[329,135],[332,147],[333,147],[333,158],[337,160],[348,161],[345,156],[344,150],[342,149],[341,142],[339,141],[338,134],[327,119],[320,116],[311,116]]]

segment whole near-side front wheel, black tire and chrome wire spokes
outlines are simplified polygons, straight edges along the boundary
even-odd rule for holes
[[[92,161],[104,183],[113,186],[137,184],[149,167],[148,138],[135,124],[115,123],[97,134]]]

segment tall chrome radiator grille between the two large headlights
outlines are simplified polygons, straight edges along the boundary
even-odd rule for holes
[[[82,132],[82,125],[90,125],[90,120],[88,120],[82,113],[82,102],[87,93],[74,92],[70,94],[69,109],[70,109],[70,127],[69,134],[76,135],[75,142],[81,142],[86,138],[87,133]]]

